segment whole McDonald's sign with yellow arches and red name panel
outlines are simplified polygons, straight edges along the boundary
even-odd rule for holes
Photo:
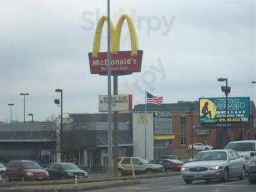
[[[124,20],[127,21],[131,39],[131,51],[120,51],[120,36]],[[89,52],[91,74],[106,75],[108,72],[108,52],[99,52],[102,28],[108,17],[102,16],[97,24],[93,40],[93,51]],[[138,49],[138,40],[134,24],[128,15],[122,15],[116,28],[110,22],[111,72],[112,75],[132,74],[141,71],[143,51]]]

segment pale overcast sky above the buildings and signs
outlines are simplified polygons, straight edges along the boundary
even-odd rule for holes
[[[119,93],[144,93],[164,103],[223,97],[218,77],[227,77],[231,97],[256,101],[255,1],[111,1],[111,17],[134,19],[143,50],[141,73],[120,76]],[[60,109],[53,100],[63,89],[65,113],[98,112],[98,95],[107,94],[107,77],[90,74],[88,52],[96,20],[106,14],[107,1],[0,1],[0,121],[23,120],[23,99],[35,120]],[[143,19],[143,20],[141,20]],[[122,50],[131,50],[127,27]],[[101,51],[106,51],[106,30]],[[159,65],[163,67],[157,71]],[[155,70],[154,70],[155,69]],[[143,79],[149,83],[143,84]]]

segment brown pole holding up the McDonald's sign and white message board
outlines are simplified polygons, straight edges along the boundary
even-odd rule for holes
[[[114,95],[118,95],[118,76],[114,76]],[[113,112],[113,161],[114,176],[118,177],[118,112]]]

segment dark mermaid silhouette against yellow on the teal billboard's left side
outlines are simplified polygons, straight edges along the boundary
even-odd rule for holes
[[[216,108],[214,103],[209,99],[200,99],[200,122],[201,123],[214,123],[216,115]]]

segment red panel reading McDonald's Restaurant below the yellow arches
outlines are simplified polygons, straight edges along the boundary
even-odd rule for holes
[[[89,62],[91,74],[106,75],[108,73],[108,52],[99,52],[97,58],[92,57],[89,52]],[[143,51],[138,50],[136,56],[131,55],[131,51],[118,51],[117,54],[111,54],[111,72],[112,75],[132,74],[132,72],[141,71]]]

